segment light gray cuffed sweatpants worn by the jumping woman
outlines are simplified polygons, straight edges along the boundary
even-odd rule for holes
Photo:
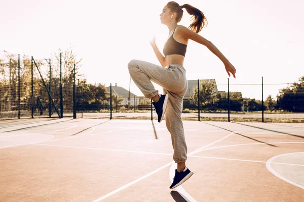
[[[188,87],[186,70],[178,64],[171,64],[164,68],[140,60],[130,61],[128,69],[134,83],[145,97],[152,98],[159,94],[151,81],[162,86],[164,94],[169,95],[165,116],[166,126],[171,134],[174,149],[173,160],[175,163],[185,162],[187,160],[187,145],[181,121],[181,112],[183,97]]]

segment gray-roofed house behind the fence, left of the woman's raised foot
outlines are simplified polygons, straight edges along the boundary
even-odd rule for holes
[[[110,92],[110,86],[106,87],[106,90]],[[129,104],[129,90],[126,90],[121,86],[117,86],[117,83],[115,83],[115,86],[112,86],[112,94],[123,97],[121,105],[125,106]],[[139,96],[130,92],[130,106],[134,106],[134,104],[139,104]]]

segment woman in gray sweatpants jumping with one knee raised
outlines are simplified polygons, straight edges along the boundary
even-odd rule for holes
[[[182,18],[182,9],[185,9],[189,15],[193,15],[193,22],[189,28],[177,25]],[[169,2],[164,7],[160,17],[161,23],[167,25],[169,29],[169,37],[163,49],[164,56],[159,51],[155,38],[150,41],[150,44],[162,67],[144,61],[132,60],[128,64],[128,69],[131,78],[144,96],[153,99],[159,122],[163,120],[166,113],[166,126],[171,134],[174,149],[173,160],[177,163],[175,177],[170,186],[170,189],[173,189],[193,175],[193,172],[185,165],[187,146],[181,120],[183,97],[188,86],[186,70],[183,68],[188,40],[191,39],[205,45],[223,62],[229,76],[232,73],[236,78],[236,69],[215,45],[198,34],[207,24],[207,20],[200,10],[188,4],[179,6],[176,2]],[[164,94],[159,95],[151,81],[162,86]]]

